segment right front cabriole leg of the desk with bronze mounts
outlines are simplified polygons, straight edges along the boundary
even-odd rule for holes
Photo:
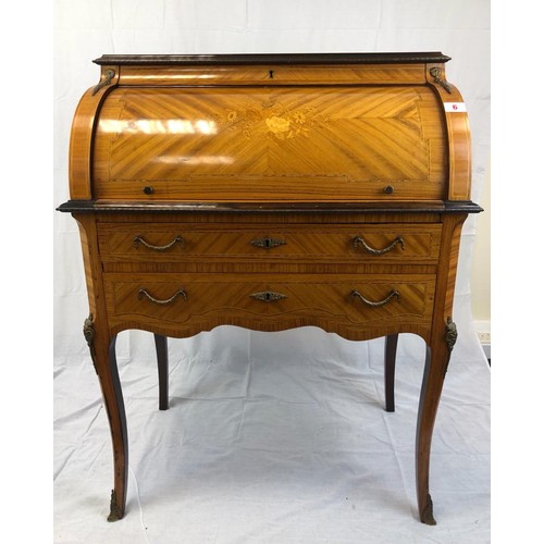
[[[447,318],[445,330],[437,337],[431,337],[426,347],[425,370],[419,401],[418,430],[416,445],[416,474],[418,486],[419,517],[423,523],[435,526],[433,502],[429,493],[429,467],[431,440],[438,409],[442,386],[447,367],[457,339],[457,327]]]

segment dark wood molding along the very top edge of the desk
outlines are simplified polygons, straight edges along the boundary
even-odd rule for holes
[[[391,53],[267,53],[267,54],[102,54],[95,64],[405,64],[441,63],[450,58],[437,52]]]

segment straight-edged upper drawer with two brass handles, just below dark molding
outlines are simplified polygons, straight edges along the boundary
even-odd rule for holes
[[[323,227],[139,223],[99,225],[104,261],[176,262],[199,259],[267,259],[429,262],[438,258],[440,224]]]

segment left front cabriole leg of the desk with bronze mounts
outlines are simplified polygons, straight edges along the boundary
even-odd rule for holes
[[[119,380],[115,357],[115,338],[104,333],[106,327],[96,325],[92,314],[84,324],[85,339],[98,374],[103,404],[110,423],[113,447],[113,490],[110,497],[108,521],[121,519],[125,511],[126,482],[128,472],[128,441],[123,393]]]

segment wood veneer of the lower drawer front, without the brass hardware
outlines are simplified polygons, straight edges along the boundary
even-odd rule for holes
[[[250,319],[282,317],[284,313],[311,314],[321,312],[354,323],[413,318],[429,318],[432,309],[434,279],[416,275],[299,275],[273,274],[147,274],[104,275],[110,316],[141,316],[146,320],[169,320],[183,323],[208,313],[247,314]],[[186,292],[169,305],[149,302],[138,296],[146,288],[154,298],[169,299],[177,289]],[[354,289],[364,290],[371,300],[382,300],[392,290],[400,293],[399,300],[380,308],[371,308],[353,298]],[[286,298],[271,304],[251,299],[252,293],[284,293]],[[274,323],[274,326],[281,326]]]

